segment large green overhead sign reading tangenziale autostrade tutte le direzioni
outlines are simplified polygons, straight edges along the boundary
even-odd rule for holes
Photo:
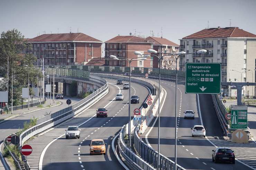
[[[221,63],[186,63],[185,93],[219,94]]]

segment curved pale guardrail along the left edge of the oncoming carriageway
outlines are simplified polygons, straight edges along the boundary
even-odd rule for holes
[[[77,81],[77,79],[74,79]],[[82,80],[82,79],[81,79]],[[100,78],[97,78],[95,81],[99,81]],[[94,91],[92,94],[90,94],[88,97],[80,100],[79,102],[75,103],[74,105],[62,109],[58,112],[49,114],[43,118],[40,118],[37,121],[37,125],[25,130],[20,134],[20,146],[28,140],[29,138],[45,132],[47,130],[50,130],[62,123],[64,123],[67,120],[72,119],[75,116],[78,116],[80,113],[82,113],[85,109],[92,106],[95,102],[100,100],[102,97],[104,97],[108,91],[108,84],[106,80],[101,79],[100,81],[105,82],[105,84],[99,88],[98,90]]]

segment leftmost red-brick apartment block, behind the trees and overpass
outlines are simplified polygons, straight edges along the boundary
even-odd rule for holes
[[[37,58],[45,65],[86,64],[94,57],[102,57],[102,41],[83,33],[42,34],[28,40]]]

